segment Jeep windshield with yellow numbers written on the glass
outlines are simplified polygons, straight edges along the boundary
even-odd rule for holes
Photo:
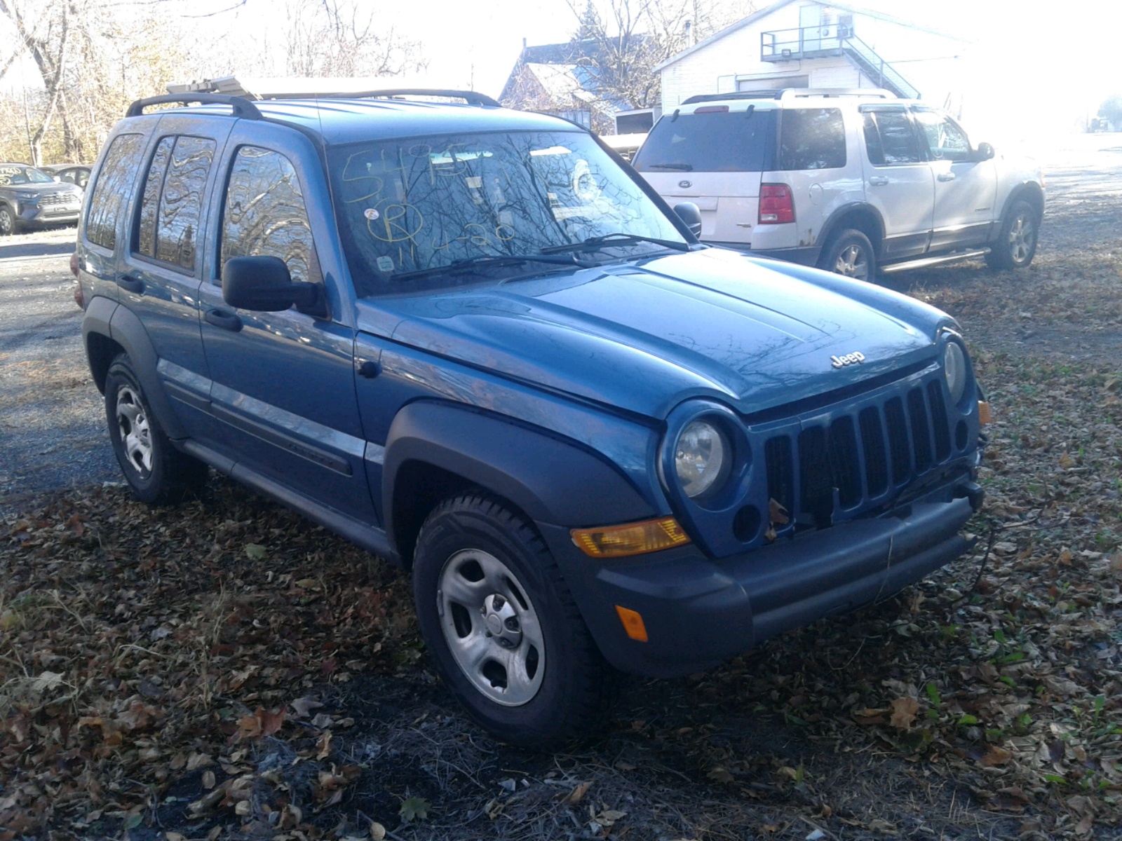
[[[640,186],[583,133],[353,144],[330,149],[328,159],[359,295],[398,292],[405,280],[394,278],[406,272],[480,257],[540,255],[605,234],[684,242]],[[627,253],[659,248],[613,247]],[[534,270],[548,269],[535,265]],[[457,271],[426,276],[426,285],[462,281]]]

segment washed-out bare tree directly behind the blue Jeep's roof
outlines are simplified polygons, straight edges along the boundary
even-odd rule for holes
[[[287,7],[287,72],[294,76],[388,76],[421,71],[421,45],[361,0],[294,2]]]

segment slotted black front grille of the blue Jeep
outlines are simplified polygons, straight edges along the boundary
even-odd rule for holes
[[[792,527],[822,528],[931,471],[950,458],[942,383],[854,408],[764,442],[767,495]]]

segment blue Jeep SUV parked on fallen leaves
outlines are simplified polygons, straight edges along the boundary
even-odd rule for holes
[[[412,570],[448,686],[537,747],[613,667],[703,669],[964,552],[953,318],[700,244],[569,122],[419,93],[113,129],[73,268],[139,499],[209,465]]]

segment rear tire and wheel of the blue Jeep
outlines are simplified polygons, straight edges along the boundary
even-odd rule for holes
[[[173,446],[125,353],[105,373],[105,420],[113,453],[137,499],[160,506],[201,495],[206,465]]]

